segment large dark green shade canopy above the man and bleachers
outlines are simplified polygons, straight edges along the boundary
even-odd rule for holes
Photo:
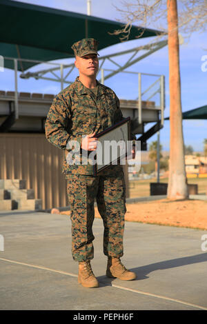
[[[71,45],[83,38],[97,39],[99,50],[119,43],[120,35],[110,33],[124,26],[116,21],[18,1],[1,0],[0,12],[0,54],[38,61],[73,57]],[[132,26],[128,40],[140,34],[143,38],[161,33]],[[35,63],[18,64],[18,70],[27,70],[33,65]],[[4,66],[13,69],[14,63],[5,59]]]

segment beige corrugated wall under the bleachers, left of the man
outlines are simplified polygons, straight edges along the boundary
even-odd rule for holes
[[[62,159],[45,134],[0,134],[0,179],[25,179],[43,209],[68,205]]]

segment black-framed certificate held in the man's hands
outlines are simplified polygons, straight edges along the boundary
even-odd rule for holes
[[[97,176],[109,165],[116,165],[121,159],[126,159],[130,145],[130,117],[122,119],[103,132],[95,134],[98,139],[96,163],[93,165],[93,174]]]

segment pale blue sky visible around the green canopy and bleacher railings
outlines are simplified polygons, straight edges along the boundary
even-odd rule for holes
[[[61,10],[73,12],[87,13],[86,0],[26,0],[21,1],[32,3],[40,6],[48,6]],[[120,3],[119,0],[92,0],[92,15],[105,19],[117,20],[122,19],[120,12],[115,8],[115,5]],[[207,71],[201,70],[201,65],[204,61],[201,58],[207,55],[206,34],[193,33],[188,40],[180,46],[180,69],[181,69],[181,103],[182,110],[191,110],[201,105],[207,104]],[[147,40],[147,42],[150,39]],[[119,43],[117,45],[99,51],[100,57],[103,54],[110,54],[117,50],[128,50],[136,46],[146,43],[146,40],[137,39]],[[70,44],[68,44],[70,45]],[[1,53],[0,53],[1,54]],[[121,58],[123,60],[124,57]],[[61,62],[60,60],[58,62]],[[63,63],[70,63],[72,59],[63,60]],[[35,67],[38,70],[39,67]],[[110,68],[110,66],[109,66]],[[169,116],[169,87],[168,87],[168,47],[151,54],[149,57],[135,63],[128,70],[135,72],[144,72],[152,74],[164,74],[166,77],[166,110],[165,117]],[[203,69],[206,70],[206,69]],[[72,77],[78,75],[77,71],[72,74]],[[119,77],[113,77],[105,82],[117,93],[120,99],[136,99],[138,81],[137,77],[131,74],[121,73]],[[66,86],[66,85],[65,85]],[[0,90],[14,89],[14,72],[5,69],[0,73]],[[36,81],[34,79],[22,80],[19,79],[19,91],[28,92],[43,92],[57,94],[60,90],[60,85],[50,81]],[[203,151],[203,141],[207,138],[207,121],[206,120],[191,120],[183,121],[184,127],[184,142],[186,145],[193,146],[197,151]],[[157,134],[149,140],[155,141]],[[164,150],[169,150],[170,128],[169,121],[165,121],[164,128],[160,131],[161,145]]]

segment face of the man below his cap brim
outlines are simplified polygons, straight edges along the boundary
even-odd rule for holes
[[[86,77],[96,76],[99,70],[97,54],[87,54],[83,57],[76,57],[75,66],[80,74]]]

